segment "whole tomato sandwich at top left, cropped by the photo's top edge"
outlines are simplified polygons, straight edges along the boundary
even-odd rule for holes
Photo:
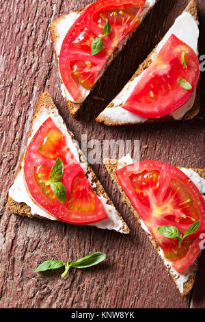
[[[61,92],[74,116],[157,0],[98,0],[51,23]]]

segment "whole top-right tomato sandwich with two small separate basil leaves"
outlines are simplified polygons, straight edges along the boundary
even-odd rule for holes
[[[105,125],[189,120],[200,111],[194,0],[96,121]]]

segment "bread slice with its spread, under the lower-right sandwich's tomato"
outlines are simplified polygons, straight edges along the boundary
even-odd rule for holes
[[[169,262],[167,262],[163,258],[163,253],[160,251],[159,245],[156,243],[156,240],[152,237],[152,235],[148,234],[148,232],[146,231],[146,227],[144,227],[145,225],[143,223],[141,223],[141,219],[140,219],[139,214],[137,213],[135,208],[132,206],[131,201],[128,199],[128,197],[124,193],[124,190],[119,185],[118,179],[115,175],[115,172],[118,170],[118,166],[122,166],[122,163],[119,162],[119,160],[105,159],[104,164],[107,168],[107,171],[109,172],[109,174],[113,178],[115,184],[118,186],[118,189],[120,190],[120,193],[122,194],[122,197],[123,197],[123,202],[127,203],[127,205],[131,208],[131,211],[133,212],[133,214],[137,218],[138,223],[141,225],[144,232],[147,234],[148,238],[150,238],[152,245],[156,249],[160,258],[163,260],[167,271],[173,277],[176,287],[180,291],[181,295],[188,295],[191,292],[191,289],[193,288],[193,284],[195,283],[195,277],[196,277],[197,270],[198,270],[198,263],[199,263],[200,256],[197,258],[197,260],[195,260],[195,262],[188,269],[189,271],[184,273],[184,275],[182,275],[182,274],[180,275],[181,276],[181,278],[180,278],[180,276],[177,275],[176,272],[173,271],[173,269],[170,267]],[[123,165],[125,166],[126,163]],[[205,179],[205,169],[191,169],[191,170],[195,171],[198,175],[200,175],[200,177]],[[205,190],[204,190],[204,193],[205,193]],[[187,275],[187,274],[189,274],[189,275]]]

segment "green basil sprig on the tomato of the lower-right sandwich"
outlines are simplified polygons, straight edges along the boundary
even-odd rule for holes
[[[178,238],[179,242],[178,242],[178,247],[182,246],[182,241],[184,240],[184,238],[186,238],[187,236],[195,233],[198,229],[200,225],[200,221],[195,221],[195,223],[193,223],[187,230],[186,232],[184,232],[184,236],[182,236],[182,234],[180,233],[180,231],[178,230],[177,227],[169,225],[169,226],[160,226],[157,228],[158,232],[165,236],[166,238]]]

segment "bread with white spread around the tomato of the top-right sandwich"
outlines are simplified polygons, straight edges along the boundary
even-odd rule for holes
[[[194,19],[193,21],[195,23],[195,26],[198,25],[197,6],[194,0],[189,1],[189,5],[187,5],[187,8],[184,10],[184,12],[182,12],[181,16],[183,16],[183,18],[184,16],[185,18],[187,18],[188,16],[189,20]],[[177,19],[179,19],[181,16],[179,16]],[[176,20],[176,22],[178,23],[178,20]],[[178,26],[175,27],[176,31],[174,32],[174,26],[176,26],[176,23],[172,26],[172,28],[169,29],[169,32],[167,32],[166,35],[171,36],[171,34],[175,32],[180,34]],[[197,27],[196,29],[198,32]],[[185,31],[183,30],[183,33],[182,33],[183,37],[185,32],[187,32],[188,37],[195,36],[195,33],[191,29],[190,25],[189,25],[189,30],[185,30]],[[166,35],[163,37],[163,39],[167,39],[165,38]],[[176,34],[176,36],[178,36],[178,34]],[[178,37],[180,38],[180,36]],[[191,97],[189,102],[187,102],[187,104],[189,105],[189,108],[191,106],[192,108],[189,109],[187,112],[185,112],[185,114],[184,114],[184,107],[182,107],[178,109],[177,112],[174,112],[174,114],[163,116],[159,119],[143,119],[122,108],[124,97],[127,98],[126,95],[128,93],[128,90],[131,90],[131,86],[133,86],[133,84],[136,82],[137,77],[139,77],[143,73],[143,71],[145,71],[148,68],[148,66],[150,66],[150,64],[152,63],[152,57],[154,57],[157,47],[163,44],[163,39],[161,40],[161,42],[159,42],[158,45],[156,45],[156,47],[153,49],[150,55],[148,55],[148,58],[146,58],[146,60],[144,60],[144,62],[139,66],[139,68],[137,69],[133,77],[128,81],[128,83],[124,86],[124,88],[117,95],[117,97],[115,97],[115,99],[113,99],[113,101],[109,103],[109,106],[107,106],[107,108],[105,108],[105,110],[103,110],[98,115],[98,117],[96,118],[96,122],[102,123],[108,126],[111,126],[111,125],[115,126],[115,125],[131,125],[131,124],[140,124],[140,123],[165,122],[165,121],[173,121],[173,120],[175,121],[190,120],[190,119],[193,119],[195,116],[197,116],[197,114],[200,112],[200,88],[198,85],[197,85],[196,92],[193,93],[193,96]],[[161,48],[161,47],[158,47],[158,48]],[[195,51],[197,51],[197,48],[195,48]]]

